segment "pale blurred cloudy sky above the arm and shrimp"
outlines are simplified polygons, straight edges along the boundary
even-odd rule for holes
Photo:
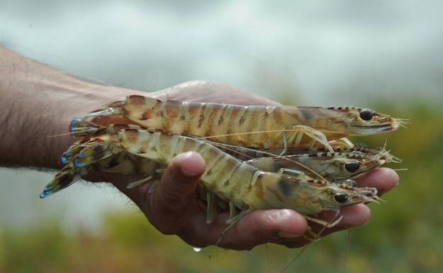
[[[359,103],[367,94],[442,99],[439,1],[5,6],[6,46],[111,84],[153,90],[214,79],[272,97],[284,82],[311,104]],[[272,77],[263,83],[262,74]]]

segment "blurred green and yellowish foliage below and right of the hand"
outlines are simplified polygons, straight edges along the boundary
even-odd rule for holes
[[[371,105],[370,105],[371,106]],[[388,149],[404,162],[393,168],[400,185],[371,204],[368,225],[310,245],[287,272],[442,272],[443,114],[437,106],[373,104],[392,116],[410,118],[408,129],[364,140]],[[359,142],[354,139],[355,142]],[[300,250],[263,245],[201,252],[175,236],[161,235],[141,213],[104,216],[99,233],[65,233],[57,221],[28,230],[0,230],[0,272],[280,272]]]

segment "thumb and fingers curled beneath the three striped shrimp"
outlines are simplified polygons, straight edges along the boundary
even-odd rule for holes
[[[204,172],[204,160],[195,152],[179,155],[163,174],[160,186],[148,194],[147,186],[139,191],[146,196],[143,203],[151,223],[165,234],[177,234],[190,245],[204,247],[214,245],[226,229],[228,213],[221,213],[212,224],[206,223],[204,208],[195,199],[199,176]],[[385,192],[398,183],[398,176],[390,169],[380,168],[359,179],[359,186],[376,186]],[[364,204],[341,209],[341,222],[334,228],[324,229],[310,223],[312,230],[327,235],[344,228],[364,225],[371,211]],[[334,213],[324,213],[319,218],[331,220]],[[280,243],[288,247],[300,247],[308,243],[302,234],[307,221],[299,213],[289,210],[253,211],[226,231],[219,244],[234,250],[249,250],[263,243]]]

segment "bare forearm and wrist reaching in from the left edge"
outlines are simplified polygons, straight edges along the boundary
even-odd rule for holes
[[[57,167],[70,119],[128,93],[82,82],[0,48],[0,165]]]

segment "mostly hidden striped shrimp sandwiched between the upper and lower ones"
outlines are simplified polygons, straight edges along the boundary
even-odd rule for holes
[[[143,129],[136,125],[95,126],[82,120],[74,120],[72,123],[79,123],[76,124],[77,128],[84,128],[83,132],[93,132],[94,135],[115,133],[124,128]],[[82,132],[77,130],[77,133]],[[326,152],[322,148],[290,148],[287,150],[285,157],[278,155],[269,157],[280,154],[281,150],[260,151],[241,147],[224,147],[220,143],[213,142],[212,145],[219,146],[224,152],[234,155],[239,160],[246,160],[246,163],[264,171],[307,172],[310,177],[327,179],[329,182],[343,182],[346,179],[358,177],[371,169],[391,162],[394,158],[384,147],[368,149],[367,147],[361,147],[361,145],[353,148],[334,147],[333,153]],[[62,155],[60,161],[62,165],[63,162],[69,161],[69,154],[70,149]]]

